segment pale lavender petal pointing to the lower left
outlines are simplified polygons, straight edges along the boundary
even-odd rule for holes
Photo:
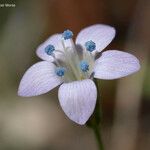
[[[31,66],[21,79],[18,95],[24,97],[44,94],[62,83],[55,74],[55,65],[42,61]]]

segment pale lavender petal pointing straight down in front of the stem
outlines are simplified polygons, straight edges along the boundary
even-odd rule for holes
[[[78,124],[85,124],[94,111],[97,90],[90,79],[62,84],[59,102],[65,114]]]

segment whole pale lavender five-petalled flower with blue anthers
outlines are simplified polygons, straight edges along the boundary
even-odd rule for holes
[[[115,37],[111,26],[87,27],[79,32],[75,43],[72,37],[72,31],[66,30],[52,35],[37,48],[43,61],[26,71],[18,95],[37,96],[60,85],[58,98],[63,111],[83,125],[96,105],[97,89],[92,79],[118,79],[138,71],[140,64],[135,56],[118,50],[96,57]]]

